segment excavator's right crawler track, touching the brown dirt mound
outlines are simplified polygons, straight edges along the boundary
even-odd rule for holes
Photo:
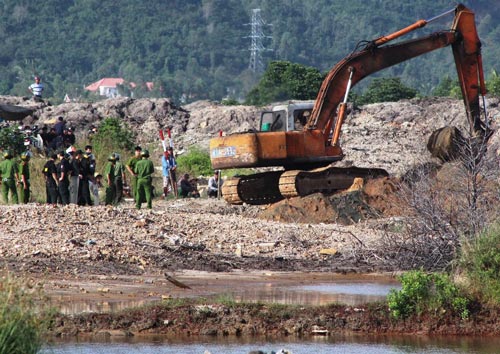
[[[324,167],[312,171],[291,170],[281,175],[280,193],[284,198],[303,197],[313,193],[333,193],[348,189],[355,178],[387,177],[381,168]]]

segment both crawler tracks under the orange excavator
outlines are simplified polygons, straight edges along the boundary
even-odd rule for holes
[[[355,178],[388,175],[387,171],[380,168],[359,167],[264,172],[228,179],[222,186],[222,195],[230,204],[270,204],[284,198],[344,190],[353,184]]]

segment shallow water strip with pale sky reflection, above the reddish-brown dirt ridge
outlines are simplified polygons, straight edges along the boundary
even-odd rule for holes
[[[153,285],[154,286],[154,285]],[[196,294],[187,291],[172,293],[172,297],[230,297],[237,302],[265,302],[286,305],[326,305],[341,303],[357,306],[368,302],[382,301],[391,289],[400,288],[393,279],[351,279],[335,278],[332,281],[318,283],[282,283],[275,281],[256,281],[235,286],[227,282],[198,282]],[[200,291],[199,289],[202,289]],[[52,303],[64,314],[85,312],[115,312],[125,308],[139,307],[157,303],[161,296],[144,296],[135,293],[129,298],[105,293],[98,296],[75,298],[71,294],[51,297]]]

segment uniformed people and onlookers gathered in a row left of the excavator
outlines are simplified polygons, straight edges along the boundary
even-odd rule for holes
[[[106,182],[105,205],[117,205],[123,199],[124,189],[127,186],[126,171],[130,174],[130,192],[135,206],[140,209],[142,203],[152,208],[154,173],[153,162],[149,159],[149,151],[140,146],[135,147],[132,156],[124,165],[118,153],[112,153],[103,169],[103,175],[96,172],[96,159],[92,153],[92,146],[85,146],[85,151],[76,150],[70,146],[57,154],[52,154],[43,166],[45,178],[45,192],[47,203],[52,205],[99,205],[99,188],[103,180]],[[1,190],[4,202],[19,203],[17,190],[19,188],[22,203],[30,201],[30,155],[22,154],[20,161],[14,160],[9,152],[4,152],[4,161],[0,163]],[[173,148],[168,149],[162,156],[163,170],[163,198],[170,192],[177,198],[200,196],[196,180],[189,179],[185,174],[180,183],[177,183],[177,163]],[[207,194],[209,197],[220,196],[222,180],[219,172],[209,179]],[[178,188],[179,187],[179,188]],[[178,190],[179,189],[179,190]]]

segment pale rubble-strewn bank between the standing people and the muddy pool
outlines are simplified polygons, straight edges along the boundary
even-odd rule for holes
[[[136,210],[131,202],[120,207],[27,204],[0,206],[0,211],[0,259],[29,272],[213,271],[224,262],[228,269],[265,269],[275,261],[299,262],[301,270],[309,270],[353,248],[374,248],[382,235],[368,223],[256,219],[259,207],[214,199],[158,201],[151,211]]]

